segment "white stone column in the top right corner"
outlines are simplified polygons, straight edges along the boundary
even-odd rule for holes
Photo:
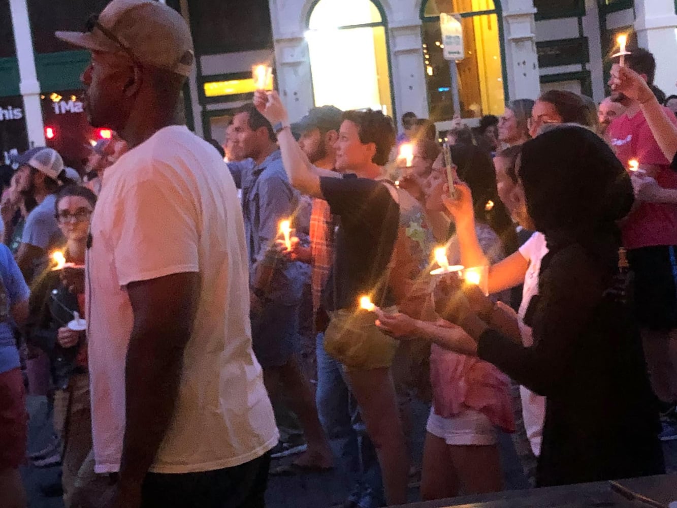
[[[656,57],[655,85],[668,96],[677,93],[677,75],[672,65],[672,55],[677,54],[674,0],[635,2],[635,12],[637,41]]]

